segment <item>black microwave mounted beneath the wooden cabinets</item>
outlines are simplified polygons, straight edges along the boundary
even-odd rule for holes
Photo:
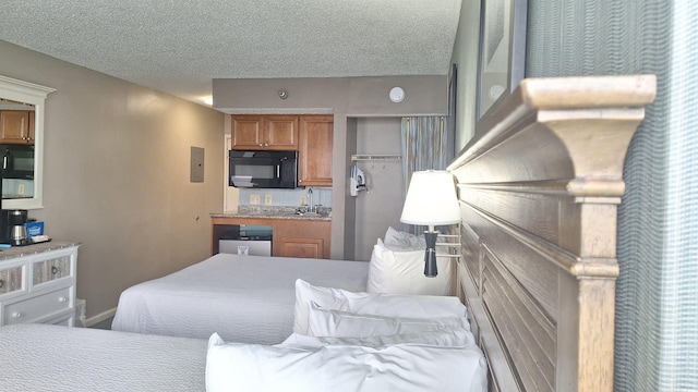
[[[228,185],[256,188],[298,186],[298,151],[229,152]]]

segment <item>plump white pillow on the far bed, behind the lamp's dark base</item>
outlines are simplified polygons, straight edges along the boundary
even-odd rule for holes
[[[424,277],[424,248],[401,250],[383,244],[373,247],[366,292],[387,294],[450,295],[452,258],[437,257],[438,274]]]

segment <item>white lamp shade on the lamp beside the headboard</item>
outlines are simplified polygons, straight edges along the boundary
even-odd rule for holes
[[[422,225],[460,222],[453,174],[438,170],[412,173],[400,222]]]

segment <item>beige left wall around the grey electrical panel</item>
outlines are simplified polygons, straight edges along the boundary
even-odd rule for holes
[[[222,113],[4,41],[0,75],[57,89],[46,102],[45,208],[29,217],[56,241],[82,243],[88,318],[106,316],[128,286],[209,255]],[[205,149],[204,183],[189,181],[191,146]]]

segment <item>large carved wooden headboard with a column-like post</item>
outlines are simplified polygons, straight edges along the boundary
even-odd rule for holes
[[[616,209],[653,75],[525,79],[448,167],[493,391],[612,391]]]

